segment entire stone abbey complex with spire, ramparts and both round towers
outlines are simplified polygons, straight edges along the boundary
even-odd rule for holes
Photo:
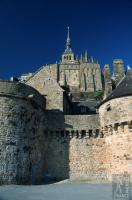
[[[87,52],[0,80],[0,184],[132,175],[132,71]]]

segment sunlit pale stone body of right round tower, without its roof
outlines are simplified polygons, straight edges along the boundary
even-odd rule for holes
[[[99,108],[101,131],[106,141],[107,173],[132,175],[132,97],[121,97]]]

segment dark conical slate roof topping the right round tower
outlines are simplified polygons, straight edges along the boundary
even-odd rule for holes
[[[111,99],[130,95],[132,95],[132,71],[130,73],[127,73],[127,75],[123,77],[123,79],[117,85],[116,89],[114,89],[111,94],[106,99],[104,99],[97,107],[99,108],[103,103]]]

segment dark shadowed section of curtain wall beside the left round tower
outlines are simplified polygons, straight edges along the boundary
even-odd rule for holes
[[[59,110],[46,111],[45,173],[44,183],[53,183],[69,178],[69,132],[65,130],[64,114]],[[71,126],[70,126],[71,127]]]

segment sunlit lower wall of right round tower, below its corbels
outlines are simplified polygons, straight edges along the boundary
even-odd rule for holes
[[[107,149],[107,173],[109,179],[113,174],[128,172],[132,176],[132,129],[128,125],[118,126],[105,138]]]

